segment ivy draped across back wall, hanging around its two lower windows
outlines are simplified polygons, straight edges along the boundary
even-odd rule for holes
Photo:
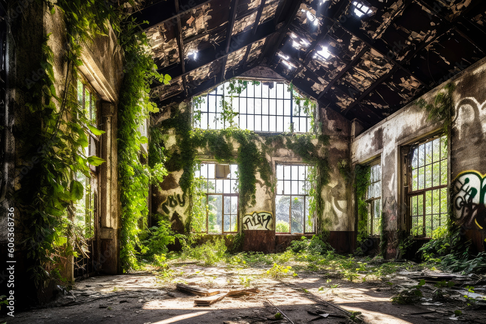
[[[200,222],[205,219],[205,210],[200,207],[204,194],[200,186],[194,185],[196,181],[194,168],[197,168],[200,163],[197,159],[198,149],[214,156],[220,163],[236,162],[238,164],[239,207],[240,214],[243,215],[247,208],[256,203],[257,173],[263,184],[270,190],[274,190],[275,179],[272,178],[272,168],[266,156],[271,153],[272,147],[274,145],[277,147],[281,141],[280,144],[294,151],[302,157],[305,163],[312,166],[308,194],[314,199],[311,201],[309,214],[311,216],[314,215],[314,212],[317,215],[322,214],[324,202],[320,193],[330,179],[326,150],[329,146],[329,136],[292,135],[285,136],[285,141],[281,140],[281,136],[266,136],[263,142],[255,132],[236,127],[222,130],[192,130],[189,107],[184,104],[174,107],[171,119],[166,119],[153,128],[156,129],[152,132],[157,134],[158,142],[150,143],[152,148],[149,152],[156,154],[157,157],[163,153],[166,156],[168,171],[177,171],[182,167],[184,173],[179,180],[179,185],[184,193],[190,192],[193,197],[191,209],[188,210],[191,217],[186,223],[186,234],[191,230],[200,229],[201,226],[196,224],[196,221]],[[174,130],[179,140],[177,146],[168,149],[165,147],[164,137],[161,134],[171,129]],[[238,145],[237,150],[234,148],[234,144]],[[150,159],[151,157],[149,157]]]

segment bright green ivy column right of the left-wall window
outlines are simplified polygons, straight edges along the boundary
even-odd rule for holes
[[[140,145],[148,139],[139,132],[149,112],[158,108],[150,101],[150,84],[157,80],[166,84],[168,78],[157,73],[156,65],[146,48],[149,47],[145,33],[132,20],[119,26],[118,39],[124,50],[125,69],[118,104],[118,183],[121,202],[120,262],[123,272],[138,267],[135,256],[140,246],[139,220],[148,214],[148,188],[152,182],[160,182],[167,170],[163,165],[161,147],[151,147],[154,161],[150,168],[141,163]],[[158,136],[151,132],[152,135]],[[154,150],[157,150],[154,152]],[[146,156],[144,156],[146,158]]]

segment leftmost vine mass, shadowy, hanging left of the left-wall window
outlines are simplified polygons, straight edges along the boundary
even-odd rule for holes
[[[36,0],[33,5],[51,15],[56,11],[64,18],[66,43],[56,51],[65,62],[62,80],[54,75],[55,54],[51,34],[45,35],[39,63],[43,69],[35,82],[23,85],[25,116],[17,120],[13,134],[22,146],[17,170],[17,190],[13,193],[19,212],[24,215],[22,232],[24,249],[28,251],[29,268],[35,285],[42,288],[49,279],[62,278],[63,266],[69,257],[77,256],[74,244],[83,236],[74,218],[74,202],[83,197],[83,184],[77,174],[89,177],[88,164],[104,161],[87,156],[84,148],[89,136],[103,132],[87,118],[87,111],[77,101],[75,80],[81,65],[81,43],[107,31],[105,21],[113,17],[112,8],[94,0]],[[91,7],[90,7],[91,6]],[[12,28],[16,28],[13,26]],[[62,87],[61,87],[62,86]],[[60,89],[59,89],[60,88]]]

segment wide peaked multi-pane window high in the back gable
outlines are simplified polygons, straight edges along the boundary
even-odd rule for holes
[[[209,92],[203,100],[193,101],[194,127],[224,129],[233,125],[255,132],[313,131],[315,102],[292,96],[295,92],[292,86],[240,80],[233,84],[243,88],[238,95],[231,92],[230,85],[228,81]]]

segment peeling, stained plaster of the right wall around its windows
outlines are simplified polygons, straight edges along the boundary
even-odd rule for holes
[[[467,192],[470,188],[474,188],[480,193],[475,198],[473,197],[473,205],[462,204],[459,206],[460,204],[457,203],[457,206],[454,207],[457,221],[467,224],[469,226],[468,235],[474,238],[478,237],[476,232],[480,229],[474,224],[474,220],[478,218],[483,220],[486,215],[482,212],[483,199],[480,202],[480,197],[484,197],[485,194],[481,182],[482,174],[486,172],[486,148],[483,145],[486,132],[485,80],[486,60],[479,61],[450,80],[456,85],[452,95],[454,108],[449,141],[448,183],[451,184],[450,194],[452,195],[450,202],[456,203],[457,195],[464,197],[464,201],[467,201],[470,198],[470,191]],[[427,102],[432,102],[438,91],[442,90],[445,85],[446,83],[436,87],[422,98]],[[382,208],[385,213],[385,229],[388,232],[387,235],[390,236],[389,240],[397,229],[406,229],[407,206],[404,199],[404,175],[400,147],[443,128],[442,122],[426,119],[427,112],[411,103],[356,136],[351,142],[350,152],[353,164],[366,163],[381,157]],[[465,190],[461,190],[466,178],[460,179],[459,182],[454,179],[469,170],[476,171],[477,175],[470,176],[469,185],[465,187]],[[476,181],[474,184],[472,184],[473,178]],[[478,206],[479,209],[476,208]],[[481,241],[485,237],[482,234]],[[482,242],[478,244],[478,248],[481,247]],[[390,247],[388,252],[393,254],[393,249]]]

